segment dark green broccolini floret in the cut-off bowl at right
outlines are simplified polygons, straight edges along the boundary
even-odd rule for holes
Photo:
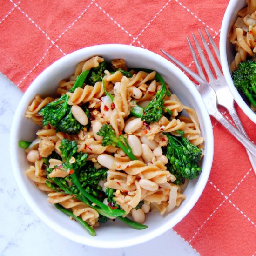
[[[232,72],[236,88],[243,92],[254,107],[256,107],[256,61],[246,60]]]

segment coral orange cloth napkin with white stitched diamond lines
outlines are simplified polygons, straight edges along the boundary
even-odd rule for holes
[[[0,72],[25,92],[57,59],[105,43],[134,45],[157,54],[162,48],[195,68],[186,36],[207,27],[218,45],[227,5],[228,0],[1,0]],[[256,141],[256,124],[240,108],[237,111]],[[209,181],[174,230],[201,255],[252,256],[255,174],[243,146],[214,119],[212,126],[215,154]]]

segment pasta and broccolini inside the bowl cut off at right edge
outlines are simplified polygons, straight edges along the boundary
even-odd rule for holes
[[[229,34],[229,41],[236,49],[230,69],[234,85],[248,98],[252,110],[256,111],[255,77],[251,76],[255,74],[256,66],[256,0],[246,0],[246,3],[247,6],[237,13]]]

